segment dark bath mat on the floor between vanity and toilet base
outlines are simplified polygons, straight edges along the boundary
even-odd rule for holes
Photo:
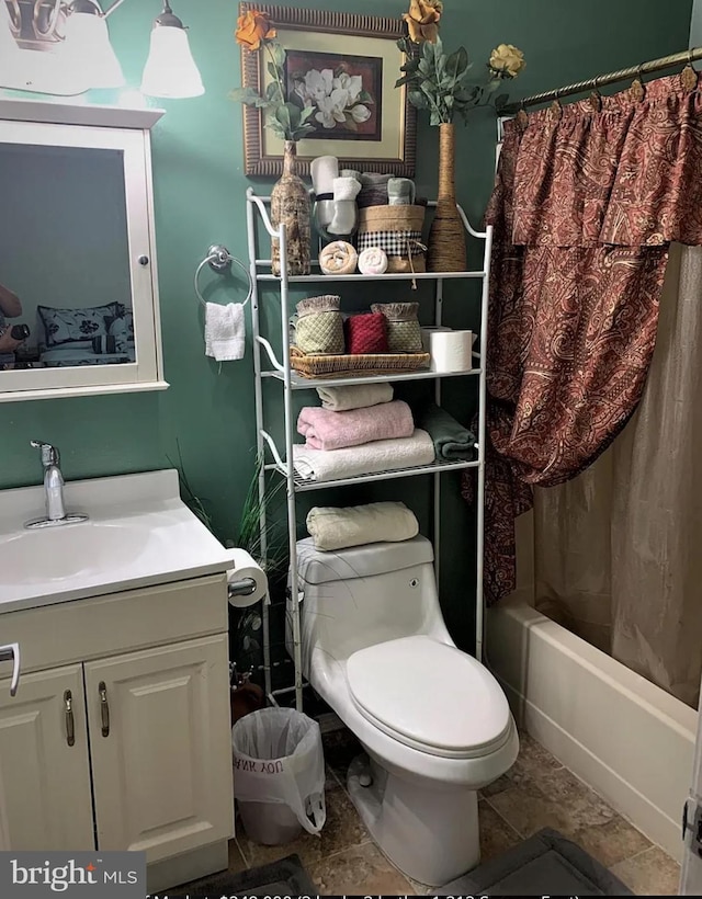
[[[194,880],[179,892],[166,890],[171,899],[196,897],[246,895],[249,899],[269,896],[317,896],[319,890],[309,879],[297,855],[287,855],[270,865],[240,870],[237,874],[223,872],[212,877]]]

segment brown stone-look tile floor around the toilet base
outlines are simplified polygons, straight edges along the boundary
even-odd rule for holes
[[[359,752],[348,731],[325,735],[327,823],[320,838],[303,835],[283,846],[251,843],[237,822],[230,870],[297,853],[321,895],[426,895],[375,847],[344,787],[346,769]],[[650,843],[545,749],[521,735],[508,774],[482,793],[483,861],[499,855],[543,827],[579,843],[638,896],[677,895],[679,866]]]

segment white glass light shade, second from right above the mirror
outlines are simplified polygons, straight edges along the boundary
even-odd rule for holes
[[[60,48],[64,65],[80,71],[91,88],[122,88],[126,82],[101,15],[73,12],[66,21]]]

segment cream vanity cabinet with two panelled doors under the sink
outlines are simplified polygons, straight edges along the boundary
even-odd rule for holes
[[[227,866],[227,624],[225,574],[0,615],[12,849],[145,851],[151,890]]]

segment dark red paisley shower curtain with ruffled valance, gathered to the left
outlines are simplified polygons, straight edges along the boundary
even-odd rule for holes
[[[670,242],[702,244],[701,173],[702,92],[681,76],[506,127],[486,217],[488,603],[513,589],[532,486],[588,468],[641,400]]]

